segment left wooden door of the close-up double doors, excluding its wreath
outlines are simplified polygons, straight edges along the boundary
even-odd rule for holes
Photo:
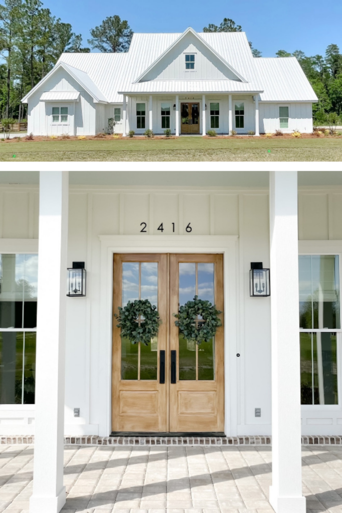
[[[168,380],[159,383],[159,358],[168,340],[168,255],[116,254],[113,282],[113,313],[128,301],[149,299],[162,324],[149,346],[132,345],[113,318],[112,430],[166,431]]]

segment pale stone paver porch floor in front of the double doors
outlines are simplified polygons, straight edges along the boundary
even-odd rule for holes
[[[0,512],[28,513],[33,446],[0,446]],[[62,513],[271,513],[271,447],[68,446]],[[309,513],[342,513],[342,447],[303,447]]]

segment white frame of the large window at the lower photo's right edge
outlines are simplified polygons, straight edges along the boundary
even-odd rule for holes
[[[337,255],[338,256],[338,270],[339,270],[339,288],[342,290],[342,244],[339,241],[298,241],[298,256],[301,255]],[[298,305],[299,307],[299,305]],[[340,304],[340,319],[341,318],[341,304]],[[342,326],[342,325],[341,325]],[[302,404],[302,411],[321,411],[342,409],[342,327],[338,329],[301,329],[299,333],[332,333],[336,332],[336,363],[337,363],[337,395],[338,404]],[[340,415],[342,415],[340,413]],[[319,425],[319,424],[318,424]]]

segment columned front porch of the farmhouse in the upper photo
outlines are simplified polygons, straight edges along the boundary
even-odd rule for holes
[[[124,95],[122,132],[143,134],[152,130],[172,135],[217,134],[259,135],[258,94]]]

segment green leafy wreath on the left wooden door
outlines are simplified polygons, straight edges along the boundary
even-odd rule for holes
[[[129,339],[132,344],[142,342],[149,345],[151,339],[157,336],[159,324],[159,313],[156,306],[152,306],[148,299],[129,301],[124,308],[118,307],[119,314],[115,313],[118,328],[121,328],[121,335]],[[142,321],[139,321],[143,317]]]

